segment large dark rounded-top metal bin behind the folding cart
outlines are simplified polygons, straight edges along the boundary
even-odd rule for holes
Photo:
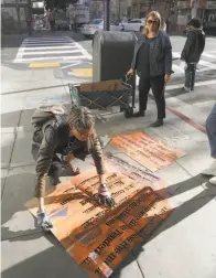
[[[93,81],[121,79],[131,67],[137,36],[129,32],[96,32],[93,41]],[[134,107],[136,75],[132,86]]]

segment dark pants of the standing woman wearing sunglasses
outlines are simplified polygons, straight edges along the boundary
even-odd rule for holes
[[[154,76],[150,78],[140,77],[139,84],[139,104],[140,111],[147,110],[147,101],[149,90],[152,88],[152,93],[156,103],[158,119],[165,118],[165,98],[164,98],[164,75]]]

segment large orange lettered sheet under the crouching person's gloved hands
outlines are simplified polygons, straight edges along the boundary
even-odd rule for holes
[[[87,171],[56,186],[45,197],[52,233],[89,277],[109,277],[132,247],[147,240],[172,209],[149,184],[121,173],[107,174],[116,207],[109,210],[93,200],[98,177]],[[88,195],[87,195],[88,194]],[[36,202],[26,204],[36,215]]]

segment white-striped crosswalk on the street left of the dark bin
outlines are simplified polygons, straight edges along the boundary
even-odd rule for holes
[[[40,36],[25,39],[13,63],[71,63],[74,61],[90,61],[91,55],[68,36]],[[56,63],[55,63],[56,64]],[[32,66],[30,66],[32,67]]]

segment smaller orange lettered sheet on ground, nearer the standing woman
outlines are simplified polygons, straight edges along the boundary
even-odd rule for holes
[[[110,142],[151,171],[168,167],[185,154],[143,132],[116,136]]]

